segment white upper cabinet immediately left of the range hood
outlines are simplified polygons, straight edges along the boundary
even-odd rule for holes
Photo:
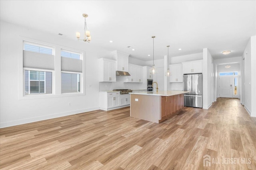
[[[99,82],[116,82],[116,61],[100,58]]]

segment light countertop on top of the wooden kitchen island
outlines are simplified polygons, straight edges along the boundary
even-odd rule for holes
[[[153,96],[174,96],[178,94],[185,94],[189,91],[179,91],[179,90],[164,90],[158,92],[131,92],[129,94],[142,94],[142,95],[153,95]]]

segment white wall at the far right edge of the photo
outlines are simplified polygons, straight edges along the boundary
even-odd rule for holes
[[[248,41],[243,53],[244,58],[244,107],[256,117],[256,36]]]

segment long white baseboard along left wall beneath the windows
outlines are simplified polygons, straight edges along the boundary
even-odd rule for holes
[[[88,109],[80,109],[80,110],[68,111],[68,112],[63,112],[63,113],[56,113],[56,114],[52,114],[52,115],[32,117],[32,118],[28,118],[28,119],[20,119],[20,120],[15,120],[15,121],[1,122],[0,128],[22,125],[22,124],[26,124],[26,123],[32,123],[32,122],[42,121],[42,120],[47,120],[47,119],[54,119],[57,117],[74,115],[74,114],[84,113],[84,112],[88,112],[88,111],[94,111],[94,110],[98,110],[98,109],[100,109],[100,108],[92,107],[92,108],[88,108]]]

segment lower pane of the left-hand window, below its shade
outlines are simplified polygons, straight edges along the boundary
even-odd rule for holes
[[[51,94],[52,72],[25,70],[25,94]]]

